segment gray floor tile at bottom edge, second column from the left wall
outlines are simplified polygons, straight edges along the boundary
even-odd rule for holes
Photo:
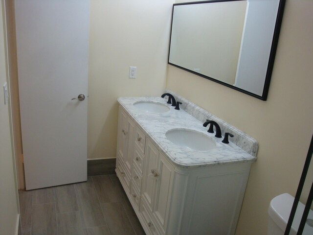
[[[32,235],[58,235],[54,203],[33,205]]]

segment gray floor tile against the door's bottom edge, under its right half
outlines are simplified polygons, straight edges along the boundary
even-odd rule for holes
[[[56,212],[78,211],[74,185],[62,185],[54,188]]]

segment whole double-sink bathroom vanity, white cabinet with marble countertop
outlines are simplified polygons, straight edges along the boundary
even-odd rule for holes
[[[232,235],[257,142],[174,96],[180,110],[164,98],[118,99],[116,174],[147,235]],[[233,142],[208,133],[205,119]]]

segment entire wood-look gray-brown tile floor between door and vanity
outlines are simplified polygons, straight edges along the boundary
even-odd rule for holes
[[[145,235],[115,174],[19,196],[22,235]]]

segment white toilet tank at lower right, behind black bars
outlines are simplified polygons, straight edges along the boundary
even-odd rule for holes
[[[274,197],[268,207],[268,235],[284,235],[288,223],[294,197],[284,193]],[[299,202],[293,218],[290,235],[296,235],[301,221],[304,205]],[[310,210],[308,218],[313,219],[313,211]],[[304,227],[303,235],[313,235],[313,227],[308,224]]]

